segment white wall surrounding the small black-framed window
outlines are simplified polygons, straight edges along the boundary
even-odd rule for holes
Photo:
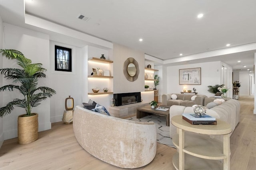
[[[72,72],[55,71],[54,51],[55,45],[72,49]],[[65,99],[74,98],[74,106],[82,104],[82,49],[73,45],[50,41],[50,84],[57,94],[50,99],[51,123],[62,121],[65,110]]]

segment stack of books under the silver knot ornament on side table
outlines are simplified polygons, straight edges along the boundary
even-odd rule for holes
[[[183,113],[182,119],[192,125],[217,125],[216,118],[210,115],[198,116],[195,114]]]

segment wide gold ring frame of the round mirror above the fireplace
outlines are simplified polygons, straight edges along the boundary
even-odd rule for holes
[[[128,65],[130,63],[134,64],[134,66],[136,68],[136,73],[134,74],[134,76],[130,76],[130,74],[127,71]],[[135,80],[137,80],[139,74],[140,74],[140,69],[139,69],[138,62],[134,58],[132,58],[132,57],[128,58],[124,62],[124,75],[126,76],[126,79],[129,80],[130,82],[134,82]]]

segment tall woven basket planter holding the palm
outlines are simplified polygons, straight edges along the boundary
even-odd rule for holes
[[[18,143],[32,143],[38,139],[38,113],[33,116],[18,116]]]

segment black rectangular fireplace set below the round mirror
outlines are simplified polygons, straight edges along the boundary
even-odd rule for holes
[[[140,92],[114,94],[116,106],[141,102]]]

